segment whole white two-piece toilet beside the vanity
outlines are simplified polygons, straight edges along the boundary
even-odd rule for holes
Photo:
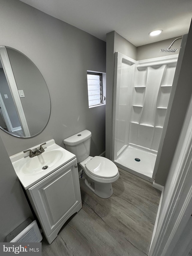
[[[76,155],[77,163],[86,174],[85,185],[102,198],[113,194],[111,183],[119,178],[116,165],[101,156],[89,156],[91,132],[84,130],[63,140],[66,149]]]

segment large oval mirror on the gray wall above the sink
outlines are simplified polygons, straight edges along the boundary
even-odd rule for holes
[[[13,48],[0,46],[0,60],[0,128],[16,137],[33,137],[50,116],[45,80],[35,64]]]

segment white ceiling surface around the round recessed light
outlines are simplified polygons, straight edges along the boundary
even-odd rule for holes
[[[191,0],[20,0],[106,41],[115,30],[135,46],[187,34]],[[150,37],[149,32],[163,29]]]

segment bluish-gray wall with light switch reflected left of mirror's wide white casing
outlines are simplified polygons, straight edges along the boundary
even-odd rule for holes
[[[17,116],[13,98],[11,96],[11,92],[10,92],[3,68],[0,68],[0,84],[1,84],[1,86],[0,86],[1,97],[3,99],[5,108],[7,110],[11,125],[13,128],[19,127],[21,125],[19,122],[19,118]],[[5,99],[4,94],[7,94],[7,96],[8,96],[7,99]]]

